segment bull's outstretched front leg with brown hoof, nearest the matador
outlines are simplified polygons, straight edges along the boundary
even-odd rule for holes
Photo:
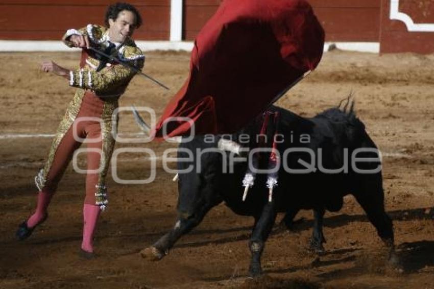
[[[178,216],[178,220],[176,221],[172,230],[168,231],[151,247],[141,250],[140,255],[143,258],[148,258],[151,260],[162,259],[165,255],[167,255],[168,250],[175,245],[177,240],[182,235],[188,233],[202,222],[204,216],[212,207],[213,205],[204,205],[195,214],[190,216]]]

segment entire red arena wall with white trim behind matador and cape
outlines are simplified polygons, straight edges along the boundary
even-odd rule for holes
[[[58,40],[66,29],[103,23],[113,0],[0,0],[0,39]],[[144,25],[136,40],[150,47],[186,47],[221,0],[131,0]],[[380,53],[434,53],[432,0],[309,0],[337,47]],[[164,41],[165,44],[155,41]],[[169,42],[170,41],[170,42]],[[4,42],[4,41],[0,41]],[[190,42],[191,43],[191,42]],[[0,43],[1,45],[1,43]],[[39,44],[38,44],[39,45]],[[11,46],[11,45],[10,45]],[[328,47],[328,46],[327,46]],[[352,48],[351,48],[352,47]],[[0,47],[1,50],[1,47]]]

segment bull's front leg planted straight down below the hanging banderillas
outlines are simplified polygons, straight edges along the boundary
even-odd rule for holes
[[[259,218],[257,218],[258,221],[255,223],[252,236],[249,240],[249,249],[252,253],[252,259],[249,266],[249,276],[251,277],[258,276],[262,273],[261,255],[264,244],[273,228],[276,215],[275,204],[274,201],[272,201],[263,207],[262,212],[259,214]]]

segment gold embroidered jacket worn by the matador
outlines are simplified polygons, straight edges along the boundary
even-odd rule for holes
[[[72,47],[69,41],[71,35],[87,35],[90,45],[105,49],[108,46],[108,29],[99,25],[87,25],[79,30],[69,29],[62,40]],[[112,56],[141,69],[144,56],[133,40],[127,39],[123,44],[117,45],[110,53]],[[135,72],[123,65],[107,63],[104,68],[97,71],[100,65],[98,55],[83,50],[80,68],[70,71],[69,84],[74,87],[89,89],[101,97],[118,97],[122,94]]]

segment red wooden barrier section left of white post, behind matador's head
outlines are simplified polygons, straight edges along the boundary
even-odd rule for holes
[[[0,0],[0,39],[57,40],[69,28],[104,24],[109,0]],[[166,40],[170,0],[129,1],[140,12],[143,26],[135,39]]]

